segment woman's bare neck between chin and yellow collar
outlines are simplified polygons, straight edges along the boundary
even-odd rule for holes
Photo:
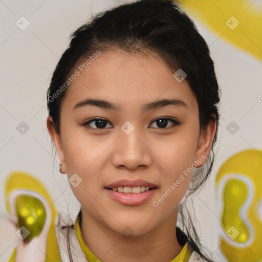
[[[171,261],[182,250],[176,236],[177,210],[158,227],[141,235],[124,237],[93,219],[82,208],[81,234],[102,261]]]

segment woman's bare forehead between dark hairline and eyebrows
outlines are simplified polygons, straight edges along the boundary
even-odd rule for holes
[[[111,50],[90,59],[82,72],[79,65],[72,74],[75,70],[79,76],[69,85],[63,99],[63,103],[70,107],[86,98],[111,101],[121,108],[160,98],[178,98],[189,106],[197,103],[187,81],[177,81],[174,72],[156,54]]]

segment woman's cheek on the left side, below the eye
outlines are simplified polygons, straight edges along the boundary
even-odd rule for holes
[[[96,206],[94,197],[101,187],[103,174],[103,152],[110,143],[98,143],[89,136],[78,134],[74,137],[64,137],[63,154],[67,167],[69,182],[71,177],[76,176],[81,181],[74,187],[70,183],[71,189],[81,205],[89,203],[90,207]],[[107,145],[108,144],[108,145]]]

